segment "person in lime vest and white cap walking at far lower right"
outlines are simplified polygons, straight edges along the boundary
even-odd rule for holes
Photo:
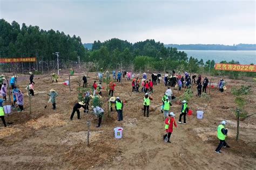
[[[226,121],[222,121],[221,124],[217,128],[217,136],[218,136],[218,139],[220,140],[220,143],[215,150],[216,153],[221,153],[220,149],[222,146],[230,147],[227,145],[227,143],[225,141],[225,138],[227,136],[227,129],[225,129],[225,125],[226,125]]]

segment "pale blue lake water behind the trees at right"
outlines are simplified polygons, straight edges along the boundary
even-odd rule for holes
[[[240,64],[249,65],[254,63],[256,65],[256,51],[216,51],[216,50],[179,50],[187,53],[187,57],[193,56],[198,60],[203,59],[214,60],[215,63],[220,61],[239,61]]]

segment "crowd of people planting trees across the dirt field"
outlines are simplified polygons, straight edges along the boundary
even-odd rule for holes
[[[72,71],[72,75],[73,70]],[[35,96],[34,93],[34,86],[35,86],[35,82],[33,81],[33,73],[29,72],[30,77],[29,77],[29,84],[28,84],[28,95],[30,96]],[[72,109],[71,112],[71,116],[70,116],[70,120],[72,121],[73,116],[75,115],[75,112],[77,112],[77,118],[80,119],[80,108],[84,109],[85,113],[89,113],[90,111],[92,111],[97,117],[98,117],[98,124],[97,124],[97,128],[100,128],[102,125],[102,118],[104,116],[104,109],[101,108],[100,105],[93,105],[91,107],[91,109],[89,109],[89,103],[92,97],[98,97],[98,96],[102,96],[102,89],[104,89],[102,87],[102,80],[103,80],[103,74],[104,73],[100,73],[99,74],[99,83],[97,84],[97,81],[94,81],[92,84],[92,96],[90,95],[90,91],[86,91],[84,93],[83,96],[83,100],[77,102]],[[52,78],[52,83],[54,81],[56,81],[56,83],[58,82],[58,75],[56,75],[55,73],[51,74],[51,78]],[[109,73],[106,73],[106,76],[109,76]],[[150,116],[150,101],[152,100],[151,94],[153,93],[153,87],[157,86],[157,84],[161,83],[161,74],[160,72],[158,74],[152,73],[151,74],[151,79],[148,79],[147,74],[143,73],[142,77],[135,77],[133,74],[131,74],[131,72],[126,72],[125,70],[123,70],[122,72],[118,72],[117,76],[116,76],[116,71],[113,70],[112,71],[112,79],[113,81],[110,81],[109,83],[109,109],[110,111],[113,111],[113,108],[115,108],[116,112],[117,112],[117,121],[123,121],[123,108],[124,108],[124,102],[120,99],[120,97],[114,97],[114,90],[115,87],[117,86],[116,83],[114,83],[114,81],[116,81],[117,83],[121,82],[122,78],[125,79],[125,77],[127,77],[127,81],[131,80],[131,85],[132,85],[132,93],[145,93],[144,98],[143,98],[143,110],[144,110],[144,116],[149,117]],[[87,88],[87,77],[84,75],[83,78],[83,87]],[[4,124],[4,126],[6,127],[6,122],[4,119],[4,111],[3,111],[3,104],[4,102],[6,102],[7,98],[6,98],[6,94],[7,94],[7,87],[6,87],[6,83],[4,83],[5,81],[5,76],[1,75],[0,76],[0,88],[1,88],[1,96],[2,98],[0,99],[0,117],[2,119],[2,122]],[[172,100],[174,100],[176,97],[173,95],[172,89],[171,87],[176,87],[178,88],[178,90],[180,91],[181,88],[188,88],[190,89],[191,86],[194,84],[197,86],[197,90],[198,90],[198,96],[201,96],[201,92],[203,89],[203,93],[206,93],[206,89],[208,87],[208,79],[207,77],[204,78],[203,82],[202,81],[202,77],[201,75],[197,75],[193,74],[192,75],[192,79],[191,76],[187,73],[184,72],[184,76],[177,74],[174,70],[172,70],[171,73],[166,72],[164,74],[164,85],[168,86],[164,96],[161,98],[161,112],[163,113],[163,116],[165,117],[165,131],[166,134],[164,134],[163,138],[164,140],[166,140],[166,142],[171,143],[171,134],[173,132],[173,126],[177,127],[177,123],[175,121],[175,116],[176,114],[174,114],[174,112],[171,109],[172,106]],[[12,107],[15,108],[16,104],[17,107],[19,108],[18,112],[24,111],[24,107],[23,107],[23,99],[24,99],[24,95],[22,93],[22,91],[20,89],[18,89],[16,87],[17,84],[17,76],[12,76],[10,79],[10,85],[11,85],[11,89],[12,89],[12,97],[13,97],[13,103],[12,103]],[[139,90],[141,87],[141,90]],[[221,92],[224,91],[225,88],[225,81],[223,79],[220,79],[219,83],[218,83],[218,88]],[[56,109],[56,97],[58,96],[58,93],[56,92],[55,89],[51,89],[49,90],[49,94],[47,94],[49,97],[49,103],[52,104],[52,109]],[[45,105],[45,108],[47,107],[47,105]],[[182,105],[181,105],[181,110],[180,110],[180,114],[179,114],[179,120],[178,123],[180,124],[186,124],[186,114],[188,113],[189,108],[188,108],[188,103],[184,100],[182,101]],[[183,118],[183,122],[182,119]],[[221,122],[221,124],[218,126],[218,138],[220,140],[220,144],[217,147],[217,149],[215,150],[215,152],[217,153],[221,153],[220,149],[222,146],[224,147],[229,147],[226,143],[225,143],[225,136],[227,134],[227,130],[225,129],[225,125],[226,122],[223,121]]]

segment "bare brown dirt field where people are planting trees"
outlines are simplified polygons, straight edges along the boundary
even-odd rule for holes
[[[82,74],[81,74],[82,75]],[[29,114],[29,99],[26,95],[28,79],[22,79],[18,86],[24,92],[24,112],[12,110],[6,117],[12,122],[7,128],[0,124],[1,169],[256,169],[256,115],[246,118],[240,125],[239,141],[235,141],[236,118],[234,97],[231,87],[251,84],[253,93],[248,95],[250,103],[246,110],[253,114],[256,109],[255,84],[244,80],[229,80],[227,90],[220,93],[216,88],[211,90],[210,100],[195,96],[188,103],[193,110],[187,116],[187,124],[178,124],[173,130],[172,143],[164,143],[164,116],[160,108],[151,109],[150,117],[144,117],[143,97],[131,100],[124,105],[124,121],[117,121],[116,111],[106,116],[107,93],[103,90],[102,101],[105,117],[102,128],[97,129],[96,117],[84,114],[77,115],[70,121],[73,105],[77,102],[77,80],[82,76],[71,76],[71,89],[62,83],[68,80],[68,74],[62,74],[59,83],[50,83],[50,76],[35,76],[35,97],[32,98],[32,114]],[[150,76],[150,74],[148,75]],[[218,77],[211,77],[217,83]],[[211,79],[210,78],[210,79]],[[209,80],[210,80],[209,79]],[[95,73],[89,73],[89,87],[96,80]],[[103,83],[106,88],[106,84]],[[57,91],[57,109],[52,110],[51,104],[44,109],[49,97],[46,95],[53,88]],[[173,88],[172,88],[173,89]],[[150,108],[161,104],[166,87],[163,82],[154,86]],[[143,96],[143,93],[131,92],[131,81],[117,83],[114,96],[121,100]],[[175,96],[178,94],[173,89]],[[8,104],[8,102],[6,103]],[[173,103],[171,111],[176,113],[176,122],[181,105]],[[203,110],[204,118],[197,119],[196,111]],[[86,146],[87,120],[92,121],[90,146]],[[221,154],[214,152],[219,141],[217,126],[227,120],[228,144],[231,148],[222,148]],[[123,138],[115,139],[113,128],[124,128]]]

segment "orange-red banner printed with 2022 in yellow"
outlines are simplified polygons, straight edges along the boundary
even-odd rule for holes
[[[256,72],[256,65],[231,65],[228,63],[217,63],[215,64],[215,69],[236,72]]]

